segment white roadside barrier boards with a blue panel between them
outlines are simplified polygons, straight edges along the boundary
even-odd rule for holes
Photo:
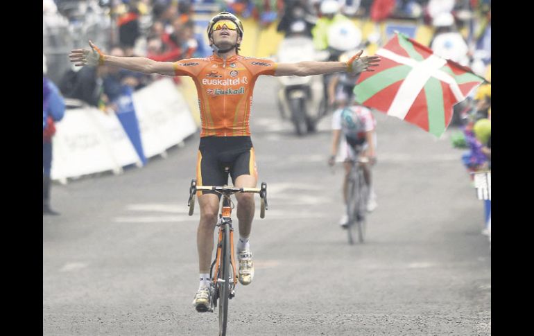
[[[145,158],[165,155],[198,129],[169,78],[121,99],[133,110],[106,114],[80,100],[67,100],[67,112],[55,125],[53,180],[66,183],[70,177],[143,166]]]

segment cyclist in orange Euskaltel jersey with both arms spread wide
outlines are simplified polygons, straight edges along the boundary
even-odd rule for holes
[[[255,188],[257,167],[250,139],[252,91],[258,76],[311,76],[347,71],[372,71],[378,56],[360,57],[362,51],[348,62],[275,63],[261,58],[239,55],[243,40],[243,24],[229,12],[215,15],[207,26],[209,42],[214,49],[208,58],[190,58],[178,62],[156,62],[143,57],[105,55],[92,42],[90,49],[75,49],[69,57],[77,66],[105,64],[141,73],[166,76],[189,76],[195,82],[200,105],[200,145],[196,166],[199,186],[223,186],[228,175],[238,188]],[[212,191],[199,191],[200,223],[197,231],[200,285],[193,300],[199,312],[210,305],[209,266],[214,247],[219,197]],[[238,193],[239,220],[239,282],[248,285],[254,276],[250,231],[254,217],[253,194]]]

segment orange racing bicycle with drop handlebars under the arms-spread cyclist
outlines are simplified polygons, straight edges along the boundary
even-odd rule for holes
[[[236,193],[259,193],[261,207],[260,218],[265,218],[267,204],[267,184],[261,183],[260,188],[235,188],[231,186],[197,186],[196,179],[191,180],[189,187],[189,215],[193,215],[195,209],[195,195],[197,191],[215,191],[222,195],[222,208],[216,226],[218,230],[216,256],[209,269],[209,277],[212,278],[210,290],[211,300],[209,312],[213,312],[218,305],[219,335],[225,336],[228,320],[228,300],[235,296],[235,288],[238,282],[236,272],[234,250],[234,228],[232,227],[232,209],[234,208],[230,196]],[[232,266],[232,267],[230,267]],[[222,277],[221,277],[222,274]]]

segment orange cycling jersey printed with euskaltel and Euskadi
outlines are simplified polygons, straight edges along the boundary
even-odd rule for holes
[[[260,75],[273,76],[277,64],[263,58],[216,55],[174,63],[176,76],[193,78],[204,136],[250,136],[252,91]]]

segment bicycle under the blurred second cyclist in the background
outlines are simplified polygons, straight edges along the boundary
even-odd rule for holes
[[[352,164],[347,180],[347,235],[349,244],[354,245],[354,227],[358,231],[358,240],[363,243],[367,227],[366,212],[369,199],[369,187],[363,176],[363,163],[369,162],[366,157],[351,160]]]

